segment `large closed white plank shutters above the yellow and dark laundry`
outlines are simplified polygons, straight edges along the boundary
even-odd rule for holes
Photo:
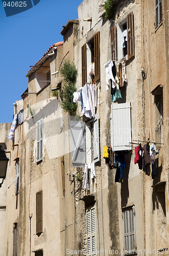
[[[110,130],[113,151],[131,150],[131,106],[130,102],[111,104]]]

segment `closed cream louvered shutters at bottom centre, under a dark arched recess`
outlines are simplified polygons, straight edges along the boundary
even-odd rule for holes
[[[95,207],[87,209],[87,255],[96,255],[96,210]]]

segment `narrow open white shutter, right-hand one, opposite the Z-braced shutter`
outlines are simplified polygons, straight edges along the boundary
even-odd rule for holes
[[[93,160],[95,163],[100,161],[98,113],[95,115],[95,118],[93,121]]]

